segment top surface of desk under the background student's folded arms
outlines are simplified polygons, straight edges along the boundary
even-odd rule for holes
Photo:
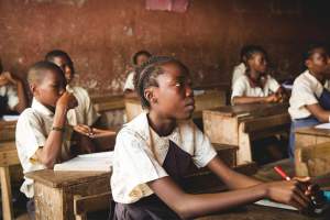
[[[226,116],[226,117],[237,117],[240,114],[264,117],[264,116],[284,113],[287,112],[287,109],[288,109],[288,103],[253,103],[253,105],[224,106],[224,107],[219,107],[206,111],[212,111],[219,116]]]

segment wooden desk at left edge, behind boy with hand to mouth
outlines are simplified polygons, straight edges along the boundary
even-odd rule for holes
[[[0,183],[4,220],[13,219],[9,166],[20,164],[14,141],[15,124],[16,121],[0,121]]]

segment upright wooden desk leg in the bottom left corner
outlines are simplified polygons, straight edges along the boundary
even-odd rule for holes
[[[11,201],[11,185],[9,167],[0,167],[1,198],[3,220],[13,219],[12,201]]]

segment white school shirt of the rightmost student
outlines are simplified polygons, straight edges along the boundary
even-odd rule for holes
[[[304,119],[310,117],[311,113],[306,108],[307,105],[318,103],[323,88],[329,89],[330,81],[326,80],[322,85],[309,70],[305,70],[294,81],[290,107],[288,112],[292,119]]]

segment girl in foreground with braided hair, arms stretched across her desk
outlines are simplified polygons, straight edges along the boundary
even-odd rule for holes
[[[300,210],[310,204],[307,182],[262,183],[219,160],[209,139],[190,120],[191,80],[179,61],[152,57],[136,73],[135,88],[148,113],[134,118],[117,136],[111,176],[114,219],[190,219],[263,198]],[[185,193],[183,177],[205,166],[233,190]]]

